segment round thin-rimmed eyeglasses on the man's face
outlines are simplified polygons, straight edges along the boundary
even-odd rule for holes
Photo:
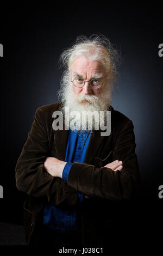
[[[93,89],[99,89],[103,83],[102,83],[102,78],[92,78],[90,81],[86,81],[82,78],[79,77],[75,77],[73,79],[73,81],[71,81],[73,83],[74,86],[78,87],[78,88],[82,88],[85,85],[85,82],[89,82],[90,87]]]

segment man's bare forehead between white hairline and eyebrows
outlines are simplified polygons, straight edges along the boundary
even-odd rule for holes
[[[105,72],[105,68],[98,60],[91,60],[85,57],[78,57],[71,66],[72,71],[91,72],[92,74]]]

